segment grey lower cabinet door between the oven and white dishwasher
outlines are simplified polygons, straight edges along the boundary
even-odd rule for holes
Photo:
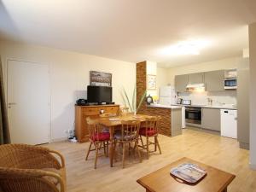
[[[202,108],[201,126],[203,129],[220,131],[220,109]]]

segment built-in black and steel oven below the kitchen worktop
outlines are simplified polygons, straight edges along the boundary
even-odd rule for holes
[[[187,125],[201,126],[201,108],[186,107],[185,119]]]

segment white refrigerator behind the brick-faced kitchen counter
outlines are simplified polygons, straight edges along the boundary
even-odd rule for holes
[[[177,103],[177,93],[172,86],[160,87],[159,102],[161,105],[174,105]]]

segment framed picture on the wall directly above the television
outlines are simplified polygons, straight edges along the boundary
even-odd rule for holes
[[[111,87],[112,73],[90,71],[90,85]]]

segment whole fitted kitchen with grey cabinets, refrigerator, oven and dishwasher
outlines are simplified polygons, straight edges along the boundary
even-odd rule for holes
[[[154,106],[181,106],[183,128],[237,139],[249,146],[247,59],[236,68],[174,74],[172,85],[161,86]]]

